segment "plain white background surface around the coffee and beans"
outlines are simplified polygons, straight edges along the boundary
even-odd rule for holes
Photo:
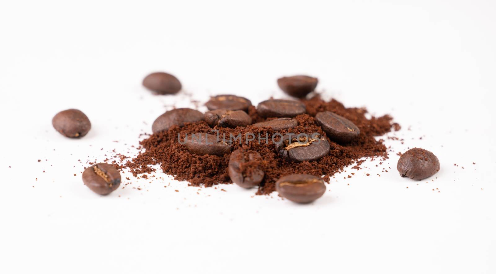
[[[495,14],[492,0],[2,1],[0,272],[496,273]],[[153,71],[184,91],[146,91]],[[124,173],[109,196],[81,182],[87,161],[135,154],[173,105],[256,104],[302,73],[390,113],[404,144],[386,140],[386,162],[347,169],[310,205],[162,173]],[[86,137],[52,128],[67,108],[90,118]],[[416,146],[439,158],[435,178],[395,170]]]

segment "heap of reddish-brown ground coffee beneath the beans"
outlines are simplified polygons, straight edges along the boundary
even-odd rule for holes
[[[308,100],[302,100],[306,105],[307,113],[295,117],[298,126],[279,131],[282,135],[287,133],[318,133],[330,144],[329,153],[312,162],[293,162],[286,161],[275,150],[275,144],[271,140],[275,131],[270,128],[259,128],[253,125],[236,129],[220,128],[215,126],[211,128],[205,121],[186,123],[183,127],[172,126],[167,131],[154,133],[150,137],[140,142],[144,151],[140,152],[137,157],[127,161],[124,165],[118,165],[118,168],[128,168],[133,176],[138,174],[151,173],[155,169],[150,165],[160,165],[162,171],[172,175],[176,180],[188,181],[193,186],[212,186],[218,183],[232,183],[228,174],[229,154],[224,156],[215,155],[195,155],[190,153],[184,144],[179,140],[184,140],[186,134],[207,133],[212,134],[212,129],[218,130],[220,136],[223,134],[229,136],[238,136],[241,133],[241,144],[239,141],[232,143],[232,151],[238,148],[257,151],[262,159],[258,162],[251,163],[245,169],[258,168],[263,170],[265,176],[260,183],[256,194],[269,194],[275,190],[275,182],[286,175],[290,174],[310,174],[318,177],[323,176],[325,182],[337,172],[342,171],[344,167],[355,164],[353,168],[360,169],[363,157],[381,157],[387,158],[387,149],[382,140],[375,140],[374,137],[382,136],[390,132],[391,128],[399,130],[399,125],[392,123],[392,117],[384,115],[381,117],[372,117],[367,119],[365,108],[346,108],[344,105],[334,99],[324,101],[318,95]],[[347,144],[338,144],[326,137],[314,121],[317,112],[331,111],[350,121],[359,129],[360,135]],[[255,107],[250,106],[248,114],[252,123],[264,122],[274,118],[262,118],[257,114]],[[246,134],[269,136],[268,140],[246,142]],[[179,135],[179,140],[178,140]],[[268,143],[266,143],[268,142]]]

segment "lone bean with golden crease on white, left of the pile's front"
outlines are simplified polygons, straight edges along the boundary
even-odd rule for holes
[[[107,195],[119,187],[121,174],[114,166],[99,163],[84,170],[83,183],[93,192]]]

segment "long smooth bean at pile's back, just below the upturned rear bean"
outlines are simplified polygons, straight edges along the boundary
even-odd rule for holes
[[[307,108],[299,101],[270,99],[260,102],[256,111],[262,117],[295,117],[305,113]]]

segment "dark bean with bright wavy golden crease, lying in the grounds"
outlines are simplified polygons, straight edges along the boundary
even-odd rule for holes
[[[329,153],[329,142],[318,135],[285,135],[276,144],[276,151],[288,161],[315,161]]]

